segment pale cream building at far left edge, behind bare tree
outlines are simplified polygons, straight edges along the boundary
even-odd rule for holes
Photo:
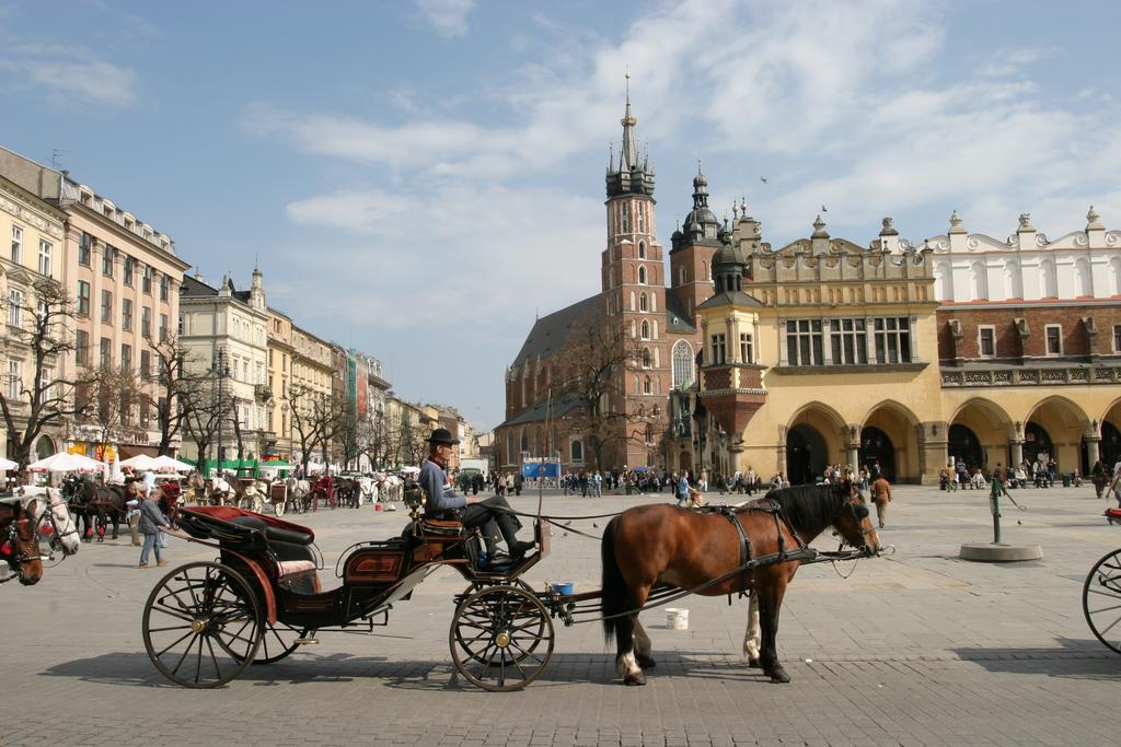
[[[55,200],[57,202],[57,200]],[[0,386],[12,409],[18,433],[9,433],[0,420],[0,437],[6,457],[15,456],[13,439],[27,427],[29,404],[21,394],[22,382],[35,375],[34,358],[26,345],[9,330],[27,328],[33,321],[26,314],[34,301],[36,281],[47,277],[62,279],[66,214],[17,181],[0,176],[0,235],[10,239],[7,251],[0,252],[0,298],[7,326],[0,333]],[[57,379],[61,361],[52,362],[52,379]],[[48,457],[62,446],[62,428],[49,429],[35,441],[31,458]]]

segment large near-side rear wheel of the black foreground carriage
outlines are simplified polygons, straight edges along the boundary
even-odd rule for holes
[[[265,620],[257,596],[232,568],[182,566],[156,585],[143,611],[143,645],[169,680],[216,688],[257,656]]]

